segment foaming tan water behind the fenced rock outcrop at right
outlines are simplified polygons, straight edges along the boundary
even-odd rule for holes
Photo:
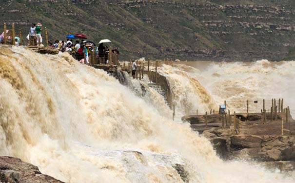
[[[236,112],[246,111],[247,100],[258,101],[250,104],[250,111],[260,112],[263,99],[268,110],[271,99],[276,99],[276,104],[278,99],[284,99],[284,107],[290,106],[291,114],[295,116],[295,61],[182,63],[174,67],[164,65],[159,71],[170,80],[175,95],[182,97],[176,98],[180,103],[178,106],[183,111],[190,106],[189,114],[195,114],[197,109],[200,114],[210,109],[218,110],[218,105],[225,100]],[[196,88],[190,83],[192,80],[197,81]],[[191,96],[192,93],[195,95]],[[182,106],[182,101],[189,104]]]

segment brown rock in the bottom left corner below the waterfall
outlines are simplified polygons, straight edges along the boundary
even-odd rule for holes
[[[44,175],[33,164],[22,162],[19,158],[0,157],[0,183],[63,183]]]

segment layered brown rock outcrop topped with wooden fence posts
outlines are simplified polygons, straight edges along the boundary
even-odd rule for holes
[[[280,124],[275,125],[276,122],[262,125],[258,114],[237,116],[243,116],[242,132],[238,135],[233,125],[222,128],[218,114],[208,115],[207,127],[204,115],[184,116],[182,120],[190,122],[194,130],[210,139],[217,154],[223,159],[255,160],[283,171],[295,170],[295,128],[292,125],[290,130],[285,130],[286,135],[281,136],[278,135]],[[293,123],[291,116],[289,119]]]

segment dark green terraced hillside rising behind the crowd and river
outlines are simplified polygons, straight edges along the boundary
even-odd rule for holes
[[[281,60],[295,47],[293,0],[3,0],[0,23],[49,39],[110,39],[121,59]]]

